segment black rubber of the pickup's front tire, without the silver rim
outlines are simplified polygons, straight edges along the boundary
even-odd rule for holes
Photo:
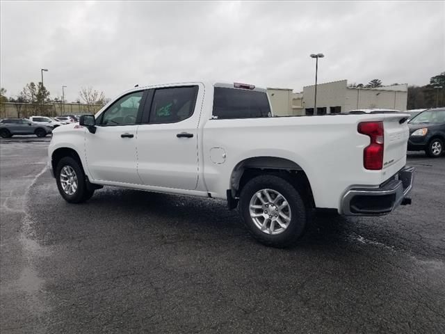
[[[65,191],[63,190],[62,182],[60,181],[60,173],[65,166],[70,166],[74,170],[74,173],[77,177],[77,189],[72,194],[65,193]],[[56,182],[60,196],[62,196],[64,200],[70,203],[85,202],[86,200],[89,200],[94,194],[94,190],[87,189],[85,173],[83,173],[83,169],[79,164],[79,161],[72,157],[63,157],[58,162],[56,167]]]

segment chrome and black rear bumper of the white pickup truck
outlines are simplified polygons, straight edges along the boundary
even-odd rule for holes
[[[380,216],[398,205],[411,204],[407,195],[412,189],[414,167],[405,166],[378,188],[353,188],[341,200],[341,214],[346,216]]]

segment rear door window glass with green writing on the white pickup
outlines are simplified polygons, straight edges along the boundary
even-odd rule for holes
[[[193,115],[197,86],[158,88],[154,91],[150,123],[181,122]]]

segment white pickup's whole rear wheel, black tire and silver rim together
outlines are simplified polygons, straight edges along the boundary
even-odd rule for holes
[[[305,202],[297,189],[282,177],[252,178],[241,190],[239,209],[250,234],[267,246],[290,246],[305,231]]]

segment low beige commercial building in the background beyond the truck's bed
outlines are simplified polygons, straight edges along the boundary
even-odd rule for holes
[[[302,93],[288,88],[268,88],[270,104],[276,116],[314,115],[315,86]],[[407,84],[378,88],[348,87],[347,80],[317,85],[317,115],[346,113],[354,109],[396,109],[407,107]]]

